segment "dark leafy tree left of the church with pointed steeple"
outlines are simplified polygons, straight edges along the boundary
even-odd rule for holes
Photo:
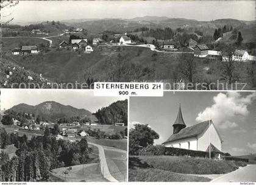
[[[154,139],[158,139],[159,135],[148,125],[135,124],[135,128],[129,131],[129,154],[137,155],[141,147],[154,144]]]

